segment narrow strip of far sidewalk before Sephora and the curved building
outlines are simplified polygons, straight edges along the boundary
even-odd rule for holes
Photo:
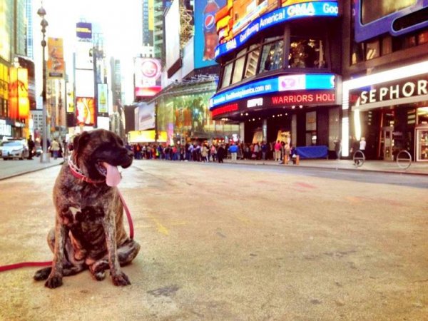
[[[225,163],[232,163],[230,159],[225,160]],[[371,170],[382,173],[404,173],[413,175],[428,175],[428,163],[412,162],[409,168],[404,169],[407,165],[400,163],[402,168],[399,168],[397,162],[392,161],[365,161],[365,163],[356,167],[352,160],[327,160],[327,159],[303,159],[300,160],[299,165],[284,165],[276,161],[253,161],[253,160],[238,160],[239,164],[251,165],[277,165],[289,167],[307,167],[307,168],[326,168],[330,170]]]

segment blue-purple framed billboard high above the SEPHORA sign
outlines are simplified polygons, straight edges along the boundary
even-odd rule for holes
[[[428,26],[427,0],[355,1],[355,40],[408,34]]]

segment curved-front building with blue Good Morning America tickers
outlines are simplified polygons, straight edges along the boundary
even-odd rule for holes
[[[307,147],[310,156],[333,156],[341,133],[339,12],[337,1],[322,0],[222,6],[213,119],[239,124],[245,143],[283,141]]]

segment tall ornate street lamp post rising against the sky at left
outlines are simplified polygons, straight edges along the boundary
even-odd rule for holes
[[[43,123],[42,123],[42,135],[43,135],[43,141],[42,141],[42,150],[43,153],[41,153],[40,156],[40,162],[41,163],[49,163],[49,154],[48,154],[48,141],[47,141],[47,131],[46,131],[46,60],[45,60],[45,48],[46,48],[46,40],[45,40],[45,34],[46,34],[46,27],[48,26],[48,21],[44,19],[44,16],[46,16],[46,10],[43,7],[43,1],[41,4],[41,7],[39,10],[37,10],[37,14],[41,17],[41,33],[43,34],[43,40],[41,41],[41,48],[42,48],[42,63],[43,63],[43,91],[41,93],[42,99],[43,99],[43,109],[42,109],[42,117],[43,117]]]

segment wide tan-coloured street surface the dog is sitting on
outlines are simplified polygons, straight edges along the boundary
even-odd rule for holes
[[[50,260],[59,166],[0,180],[0,264]],[[0,320],[426,320],[426,175],[135,161],[132,282],[0,273]]]

